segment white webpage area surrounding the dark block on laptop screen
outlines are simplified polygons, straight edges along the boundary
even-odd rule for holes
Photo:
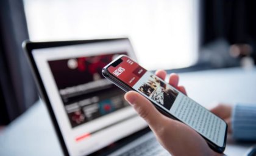
[[[98,118],[78,127],[71,128],[48,61],[115,52],[127,52],[128,55],[135,58],[132,47],[127,41],[87,44],[86,46],[76,45],[36,49],[32,52],[70,155],[90,154],[93,151],[113,143],[113,141],[119,140],[120,138],[146,127],[146,123],[143,120],[141,120],[139,117],[135,117],[124,121],[121,124],[105,129],[102,132],[98,132],[96,135],[94,134],[90,138],[86,138],[85,140],[81,140],[79,142],[75,141],[76,137],[87,132],[94,131],[95,129],[99,129],[100,127],[106,126],[115,121],[119,121],[122,118],[126,118],[132,114],[135,114],[135,111],[131,107],[126,107],[113,112],[112,114],[105,115],[102,118]]]

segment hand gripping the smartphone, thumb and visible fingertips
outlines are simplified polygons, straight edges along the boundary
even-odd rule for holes
[[[166,72],[160,70],[156,72],[156,75],[165,80]],[[178,86],[178,83],[179,76],[172,73],[169,84],[186,93],[185,88]],[[138,115],[149,124],[157,140],[171,155],[222,155],[210,149],[204,138],[187,125],[160,114],[154,105],[140,93],[130,91],[126,93],[125,98]]]

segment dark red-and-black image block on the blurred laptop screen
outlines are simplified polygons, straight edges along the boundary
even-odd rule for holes
[[[101,74],[102,68],[121,54],[127,55],[119,52],[48,61],[71,127],[129,106],[124,92]]]

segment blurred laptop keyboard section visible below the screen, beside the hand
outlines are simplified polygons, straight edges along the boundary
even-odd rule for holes
[[[130,149],[121,156],[170,156],[169,152],[167,152],[163,147],[155,140],[155,138],[150,138],[149,140],[141,143],[135,148]]]

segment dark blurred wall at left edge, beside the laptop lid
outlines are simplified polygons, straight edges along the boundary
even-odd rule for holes
[[[37,90],[21,43],[28,39],[23,1],[0,1],[0,124],[22,114],[37,99]]]

